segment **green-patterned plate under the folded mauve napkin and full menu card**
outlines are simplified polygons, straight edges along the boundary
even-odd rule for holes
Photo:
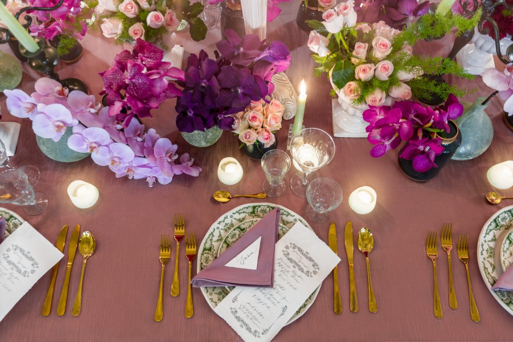
[[[242,236],[240,231],[234,231],[235,228],[240,227],[240,229],[242,229],[242,227],[244,227],[245,229],[249,229],[250,227],[246,226],[249,225],[249,223],[244,224],[246,221],[256,219],[254,222],[258,222],[258,220],[262,219],[274,208],[280,208],[280,231],[283,229],[282,226],[286,229],[290,229],[298,221],[311,229],[310,225],[303,217],[282,206],[274,205],[271,203],[257,203],[245,204],[236,207],[215,220],[212,226],[210,226],[208,229],[200,244],[200,248],[198,249],[198,267],[196,267],[196,272],[200,272],[202,269],[207,267],[216,257],[218,257],[219,249],[221,248],[223,241],[225,241],[223,248],[226,249],[227,244],[231,246],[231,244],[235,242],[233,237],[237,235],[239,237]],[[225,237],[230,232],[234,235],[230,235],[225,239]],[[308,308],[313,304],[313,301],[317,297],[320,288],[321,286],[315,289],[315,291],[308,297],[305,303],[289,319],[287,324],[292,323],[308,310]],[[203,287],[201,288],[201,292],[207,300],[208,305],[212,309],[214,309],[229,293],[229,291],[222,286]]]

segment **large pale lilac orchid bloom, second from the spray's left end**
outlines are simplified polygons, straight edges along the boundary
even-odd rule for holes
[[[78,120],[71,116],[69,109],[61,104],[37,105],[37,111],[40,114],[34,116],[32,120],[32,129],[34,133],[58,142],[68,127],[78,124]]]

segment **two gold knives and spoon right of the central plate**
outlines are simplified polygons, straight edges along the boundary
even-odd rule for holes
[[[329,226],[328,233],[328,245],[331,250],[338,255],[337,251],[337,227],[334,223]],[[344,231],[344,245],[346,248],[347,262],[349,264],[349,309],[351,312],[358,312],[358,296],[356,293],[356,284],[354,281],[354,264],[353,264],[353,233],[352,223],[349,221],[346,224]],[[366,227],[362,228],[358,233],[358,249],[365,255],[367,264],[367,283],[368,283],[368,301],[369,311],[372,313],[378,312],[378,304],[376,303],[376,296],[374,296],[374,290],[372,288],[372,281],[370,278],[370,264],[369,264],[369,253],[374,247],[374,239],[372,233]],[[333,311],[337,314],[342,313],[342,300],[340,298],[339,289],[339,275],[337,266],[333,269]]]

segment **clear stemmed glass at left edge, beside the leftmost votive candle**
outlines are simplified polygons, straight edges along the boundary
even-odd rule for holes
[[[0,173],[0,203],[23,206],[28,215],[39,215],[48,206],[48,197],[42,192],[34,193],[25,173],[9,169]]]

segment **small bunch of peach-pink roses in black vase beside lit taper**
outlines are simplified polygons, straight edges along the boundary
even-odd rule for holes
[[[274,133],[282,128],[285,107],[275,99],[266,103],[263,99],[253,101],[242,112],[233,114],[232,132],[239,135],[240,148],[255,159],[260,159],[276,146]]]

